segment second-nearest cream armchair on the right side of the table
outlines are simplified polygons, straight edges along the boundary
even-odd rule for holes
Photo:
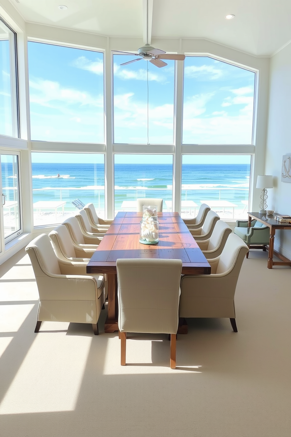
[[[196,241],[207,260],[216,258],[221,254],[231,232],[231,228],[226,224],[226,222],[218,220],[214,225],[210,238],[207,240]]]

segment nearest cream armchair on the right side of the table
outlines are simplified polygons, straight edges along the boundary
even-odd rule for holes
[[[237,332],[234,294],[248,247],[230,234],[219,257],[208,260],[210,275],[181,278],[180,317],[227,317]]]

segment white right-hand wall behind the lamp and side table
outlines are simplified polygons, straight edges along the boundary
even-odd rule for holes
[[[291,153],[291,44],[270,61],[270,100],[265,174],[274,176],[268,207],[291,215],[291,183],[281,182],[282,156]],[[291,259],[291,232],[276,232],[275,249]]]

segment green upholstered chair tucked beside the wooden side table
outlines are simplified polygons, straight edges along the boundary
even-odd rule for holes
[[[266,245],[270,242],[270,229],[264,223],[252,220],[251,227],[248,227],[247,220],[237,220],[234,233],[243,239],[249,249],[263,249],[266,252]],[[249,252],[246,257],[249,257]]]

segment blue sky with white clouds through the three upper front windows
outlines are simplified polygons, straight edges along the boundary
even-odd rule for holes
[[[104,142],[103,53],[29,42],[28,55],[32,139]],[[172,144],[175,62],[120,65],[132,59],[113,55],[115,142],[147,144],[148,83],[149,143]],[[186,56],[183,143],[251,144],[254,80],[246,69]]]

